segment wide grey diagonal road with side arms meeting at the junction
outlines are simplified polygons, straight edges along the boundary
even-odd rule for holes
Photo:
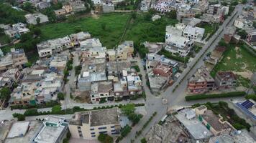
[[[140,142],[140,139],[142,139],[143,137],[145,137],[145,133],[147,133],[150,129],[150,127],[152,127],[155,123],[159,122],[160,119],[165,116],[168,107],[173,106],[173,105],[182,105],[182,106],[186,106],[186,105],[191,105],[194,104],[193,102],[186,102],[185,101],[185,92],[184,90],[186,89],[187,86],[187,79],[188,77],[191,77],[191,75],[193,75],[193,73],[196,71],[196,69],[198,69],[198,67],[201,67],[204,65],[204,56],[205,54],[207,54],[209,51],[213,51],[215,46],[219,43],[219,41],[221,40],[221,38],[224,35],[224,31],[228,26],[232,26],[232,24],[234,23],[234,20],[237,19],[237,16],[239,14],[242,14],[242,5],[237,5],[236,8],[234,9],[234,12],[232,13],[232,16],[229,16],[224,23],[219,26],[219,29],[216,31],[216,34],[214,34],[209,41],[207,42],[207,44],[203,47],[203,49],[196,55],[196,57],[193,59],[193,61],[191,61],[190,63],[188,63],[187,68],[183,71],[183,74],[180,75],[180,78],[178,79],[177,82],[175,82],[175,84],[173,84],[173,86],[168,87],[168,89],[165,90],[165,92],[161,93],[161,97],[168,99],[168,104],[162,104],[162,98],[156,98],[154,97],[149,89],[147,89],[147,85],[145,85],[145,82],[143,82],[144,87],[145,87],[145,92],[147,95],[147,101],[145,104],[145,108],[147,110],[147,114],[145,115],[145,117],[142,117],[140,124],[136,124],[133,128],[132,131],[127,135],[127,137],[125,137],[124,139],[122,139],[122,143],[127,143],[127,142],[131,142],[131,140],[134,140],[134,142]],[[206,51],[206,52],[204,52]],[[203,55],[203,56],[201,56]],[[196,62],[198,59],[198,62]],[[140,62],[139,62],[140,63]],[[193,66],[195,64],[195,66]],[[141,69],[143,69],[141,66],[139,65]],[[142,75],[144,71],[142,71]],[[143,76],[144,77],[144,76]],[[183,81],[181,81],[181,79],[184,79]],[[143,78],[143,80],[145,81],[145,77]],[[178,85],[178,88],[175,89],[175,92],[173,92],[174,87]],[[211,99],[211,102],[214,102],[216,100],[219,101],[218,99]],[[221,99],[223,100],[223,99]],[[228,99],[224,99],[224,100],[228,100]],[[195,103],[200,103],[200,102],[207,102],[208,100],[201,100],[201,101],[196,101]],[[135,139],[135,135],[136,132],[139,131],[140,129],[142,129],[143,124],[145,124],[145,122],[147,122],[147,120],[150,118],[150,116],[154,113],[157,112],[157,115],[152,119],[152,121],[150,122],[150,124],[147,125],[147,127],[142,131],[142,134],[137,137]]]

